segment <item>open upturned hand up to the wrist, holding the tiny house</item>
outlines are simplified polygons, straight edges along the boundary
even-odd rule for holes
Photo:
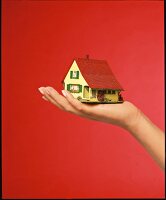
[[[44,100],[51,102],[64,111],[123,128],[128,128],[137,123],[141,113],[137,107],[128,101],[122,104],[86,104],[75,99],[66,90],[62,90],[64,96],[52,87],[40,87],[39,91],[42,93]]]

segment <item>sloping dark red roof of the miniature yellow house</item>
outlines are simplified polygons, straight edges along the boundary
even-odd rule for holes
[[[105,60],[89,58],[75,58],[74,60],[89,87],[95,89],[123,90]]]

